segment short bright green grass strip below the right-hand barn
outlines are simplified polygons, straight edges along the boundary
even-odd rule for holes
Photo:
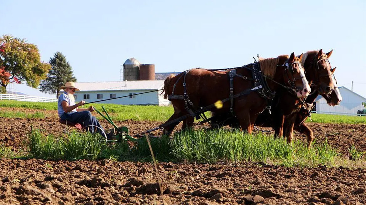
[[[313,123],[340,123],[340,124],[366,124],[366,116],[328,115],[312,113],[311,119],[306,122]]]

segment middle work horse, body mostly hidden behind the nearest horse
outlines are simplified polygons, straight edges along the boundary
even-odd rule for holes
[[[322,94],[327,99],[329,98],[328,94],[333,93],[332,91],[335,89],[332,79],[335,68],[331,68],[328,60],[332,51],[326,54],[323,53],[322,49],[319,51],[308,51],[302,56],[305,76],[309,80],[310,88],[313,91],[306,98],[305,102],[299,100],[291,92],[280,88],[271,102],[271,109],[262,112],[255,121],[255,125],[272,127],[275,130],[275,136],[284,136],[287,142],[292,142],[292,133],[295,126],[296,131],[307,136],[307,146],[310,148],[314,136],[312,131],[302,124],[307,116],[310,116],[310,109],[318,94]],[[330,95],[333,96],[333,94]],[[336,97],[333,96],[333,98]],[[339,104],[337,99],[335,101]],[[216,113],[214,116],[216,116]],[[221,123],[219,124],[220,126],[229,124],[233,127],[238,127],[238,121],[234,118],[228,120],[223,116],[219,116],[213,121],[216,122],[216,125]],[[222,123],[223,121],[227,121],[227,123]]]

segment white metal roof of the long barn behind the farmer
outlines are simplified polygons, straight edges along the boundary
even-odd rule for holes
[[[115,81],[115,82],[75,82],[80,91],[100,90],[158,90],[164,86],[164,81]]]

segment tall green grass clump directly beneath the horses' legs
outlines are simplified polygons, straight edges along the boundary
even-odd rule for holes
[[[244,134],[236,130],[187,130],[171,140],[175,158],[190,162],[254,161],[286,166],[332,164],[338,153],[328,143],[314,143],[308,150],[299,140],[288,144],[265,134]]]

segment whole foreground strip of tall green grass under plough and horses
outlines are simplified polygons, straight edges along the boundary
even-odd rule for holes
[[[240,131],[187,130],[172,139],[167,136],[150,139],[158,161],[216,163],[262,162],[284,166],[314,167],[352,166],[366,168],[365,153],[351,147],[342,156],[325,141],[314,142],[310,150],[300,140],[288,144],[266,134],[248,135]],[[49,160],[110,159],[151,161],[146,139],[132,143],[106,144],[100,135],[71,132],[66,136],[44,136],[33,130],[27,138],[28,158]],[[350,157],[352,156],[352,158]],[[0,146],[0,158],[11,158],[11,150]]]

